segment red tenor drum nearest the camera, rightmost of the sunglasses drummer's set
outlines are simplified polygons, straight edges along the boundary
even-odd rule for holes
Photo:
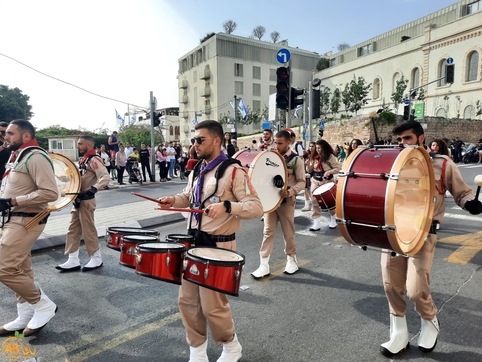
[[[244,255],[222,248],[193,247],[186,251],[184,279],[216,292],[239,295]]]

